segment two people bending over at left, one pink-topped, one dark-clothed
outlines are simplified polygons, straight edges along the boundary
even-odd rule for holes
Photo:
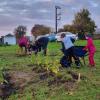
[[[41,37],[34,43],[31,43],[26,36],[22,36],[18,41],[18,45],[21,49],[21,52],[24,52],[25,54],[31,54],[32,51],[37,54],[38,52],[43,50],[43,54],[46,55],[48,42],[49,38]]]

